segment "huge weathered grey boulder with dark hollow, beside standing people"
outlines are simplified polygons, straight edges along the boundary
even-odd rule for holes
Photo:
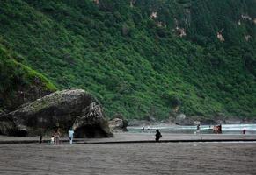
[[[71,127],[77,137],[112,136],[98,102],[81,89],[57,91],[0,116],[5,135],[49,134],[56,128],[67,133]]]

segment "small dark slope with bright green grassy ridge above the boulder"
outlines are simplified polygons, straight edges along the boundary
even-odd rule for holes
[[[3,44],[0,39],[0,113],[56,90],[43,75],[13,59],[18,55],[7,50]]]

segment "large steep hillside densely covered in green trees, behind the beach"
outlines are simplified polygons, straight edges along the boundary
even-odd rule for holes
[[[109,117],[163,119],[179,107],[252,118],[255,9],[254,0],[4,0],[0,36],[58,88],[97,96]]]

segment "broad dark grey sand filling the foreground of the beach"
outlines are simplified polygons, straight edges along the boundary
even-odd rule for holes
[[[0,174],[256,174],[256,143],[0,144]]]

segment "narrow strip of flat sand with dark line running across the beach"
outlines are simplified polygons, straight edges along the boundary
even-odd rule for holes
[[[256,142],[255,134],[167,134],[162,133],[160,143],[212,143],[212,142]],[[75,138],[74,144],[135,144],[155,143],[155,133],[114,133],[114,137]],[[62,137],[61,144],[69,144],[68,137]],[[38,144],[39,137],[6,137],[0,135],[0,144]],[[43,137],[43,144],[49,137]]]

